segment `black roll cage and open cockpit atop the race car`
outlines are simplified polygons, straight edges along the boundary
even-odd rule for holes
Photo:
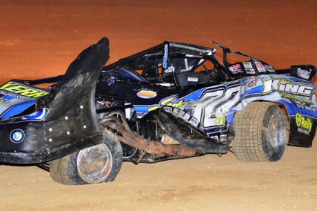
[[[171,86],[232,81],[234,78],[214,57],[215,52],[215,48],[165,41],[106,66],[103,74]]]

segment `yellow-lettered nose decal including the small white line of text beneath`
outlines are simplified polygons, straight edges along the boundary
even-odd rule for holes
[[[39,98],[39,97],[44,97],[45,95],[48,94],[48,92],[45,92],[43,90],[38,90],[37,88],[30,88],[28,86],[25,86],[22,83],[17,83],[14,81],[10,81],[8,83],[3,84],[0,87],[0,94],[3,95],[8,95],[10,97],[14,97],[17,99],[23,99],[23,100],[32,100],[32,99],[28,99],[28,97],[32,97],[34,98]],[[12,92],[14,94],[10,94],[9,92]],[[19,97],[19,94],[23,97]]]

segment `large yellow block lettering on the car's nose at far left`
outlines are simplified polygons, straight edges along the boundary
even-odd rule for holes
[[[48,92],[42,92],[34,88],[30,88],[21,83],[10,81],[0,87],[0,90],[6,90],[15,94],[20,94],[25,97],[39,98],[48,94]]]

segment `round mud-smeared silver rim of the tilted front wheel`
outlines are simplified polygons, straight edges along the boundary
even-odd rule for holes
[[[78,153],[79,177],[88,183],[104,181],[112,168],[112,155],[104,143],[85,148]]]

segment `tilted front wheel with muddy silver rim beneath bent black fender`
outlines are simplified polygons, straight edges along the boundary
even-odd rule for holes
[[[65,185],[113,181],[122,163],[122,148],[116,136],[103,132],[104,143],[51,161],[50,175]]]

